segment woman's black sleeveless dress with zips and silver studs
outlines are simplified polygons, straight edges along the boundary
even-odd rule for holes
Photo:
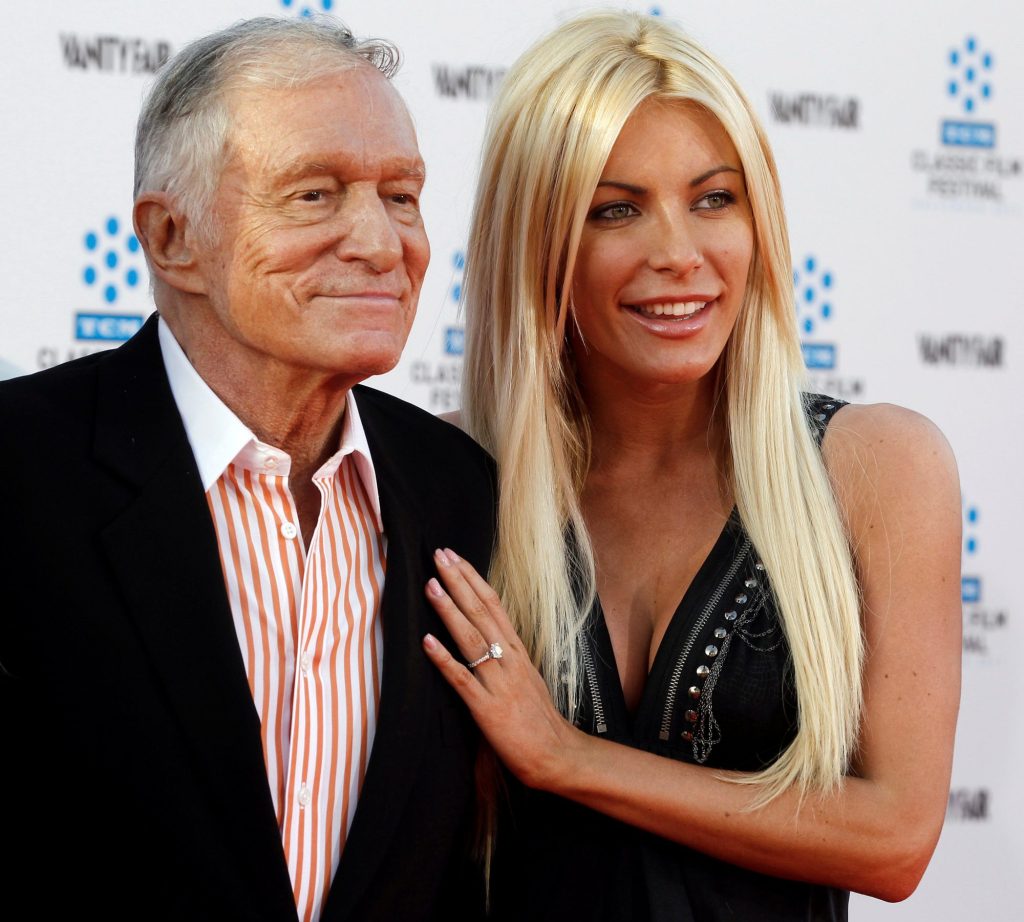
[[[807,395],[818,443],[844,404]],[[756,771],[790,744],[790,651],[733,512],[687,589],[630,714],[600,606],[583,638],[587,731],[683,762]],[[492,916],[522,922],[845,922],[849,893],[757,874],[509,783]]]

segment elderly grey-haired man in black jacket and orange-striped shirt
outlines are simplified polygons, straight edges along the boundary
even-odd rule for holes
[[[0,387],[4,838],[25,917],[462,919],[476,736],[431,552],[493,473],[355,387],[429,258],[395,55],[257,19],[162,72],[135,228],[159,317]]]

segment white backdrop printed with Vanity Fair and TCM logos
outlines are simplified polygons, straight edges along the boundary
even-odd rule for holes
[[[708,44],[767,125],[813,385],[922,411],[959,459],[965,671],[946,826],[909,900],[857,897],[853,918],[1019,919],[1024,611],[1013,523],[1024,519],[1015,364],[1024,332],[1024,6],[627,5]],[[152,310],[131,232],[131,176],[135,116],[154,70],[237,19],[327,10],[401,48],[396,83],[429,171],[433,263],[406,358],[376,383],[432,411],[457,407],[459,289],[487,102],[530,41],[584,8],[572,0],[12,4],[0,59],[0,377],[116,345]],[[908,648],[908,663],[913,656]]]

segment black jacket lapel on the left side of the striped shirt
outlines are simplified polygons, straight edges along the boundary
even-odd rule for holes
[[[197,796],[219,816],[226,852],[239,858],[239,884],[249,890],[244,903],[294,916],[216,534],[155,319],[101,367],[95,456],[135,491],[101,540],[189,744],[196,771],[183,783],[194,777]]]

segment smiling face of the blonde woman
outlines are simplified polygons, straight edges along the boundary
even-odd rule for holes
[[[739,157],[685,102],[641,103],[591,202],[572,282],[585,386],[699,381],[742,304],[754,227]]]

